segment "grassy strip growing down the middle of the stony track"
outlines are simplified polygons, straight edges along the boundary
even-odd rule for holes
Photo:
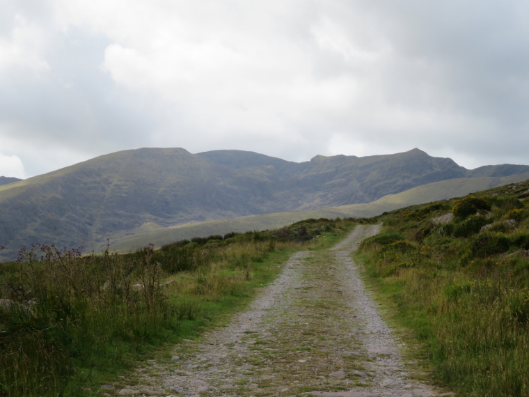
[[[301,395],[321,389],[343,391],[348,385],[358,383],[354,376],[344,380],[329,377],[337,368],[346,372],[362,368],[356,362],[358,357],[336,357],[334,354],[336,346],[344,350],[359,348],[354,337],[342,332],[347,328],[347,313],[351,309],[337,303],[342,299],[335,288],[335,279],[342,276],[344,270],[335,266],[335,258],[328,251],[303,258],[298,276],[303,283],[294,286],[287,296],[290,301],[287,309],[268,318],[274,326],[265,327],[267,339],[248,335],[255,338],[250,350],[260,357],[253,361],[256,371],[273,371],[274,376],[282,377],[283,385],[290,385],[288,394]],[[263,348],[273,350],[264,352]],[[303,379],[303,383],[294,383],[297,377]],[[274,384],[277,387],[276,382]],[[264,389],[262,395],[274,393],[274,384],[260,384]]]

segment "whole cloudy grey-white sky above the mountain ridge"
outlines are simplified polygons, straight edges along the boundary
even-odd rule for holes
[[[0,0],[0,176],[142,147],[529,164],[524,0]]]

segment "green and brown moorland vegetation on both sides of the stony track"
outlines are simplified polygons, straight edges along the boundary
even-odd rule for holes
[[[529,181],[130,254],[24,248],[0,264],[0,396],[95,395],[138,359],[242,309],[292,252],[380,221],[358,259],[434,379],[464,396],[529,396]]]

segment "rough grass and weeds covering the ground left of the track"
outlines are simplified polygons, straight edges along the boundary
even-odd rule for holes
[[[300,249],[352,220],[152,246],[118,255],[34,246],[0,265],[0,396],[91,396],[164,345],[228,321]]]

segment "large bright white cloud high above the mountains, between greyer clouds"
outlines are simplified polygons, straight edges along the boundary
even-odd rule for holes
[[[103,67],[118,86],[171,103],[178,120],[166,115],[168,123],[192,125],[201,137],[295,136],[303,125],[317,127],[347,111],[358,95],[345,70],[315,75],[315,34],[332,24],[327,19],[317,28],[320,15],[304,2],[127,5],[118,11],[106,2],[68,1],[61,18],[104,32],[113,42]]]

